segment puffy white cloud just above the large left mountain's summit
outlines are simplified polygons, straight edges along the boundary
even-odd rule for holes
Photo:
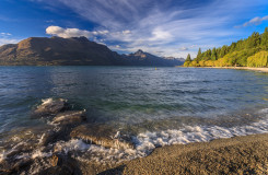
[[[55,36],[59,36],[63,38],[80,37],[80,36],[90,37],[91,36],[91,33],[89,31],[83,31],[79,28],[62,28],[59,26],[48,26],[46,28],[46,34],[55,35]]]

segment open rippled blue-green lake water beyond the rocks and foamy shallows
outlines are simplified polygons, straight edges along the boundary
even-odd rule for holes
[[[96,122],[215,118],[266,108],[268,75],[252,71],[137,67],[0,67],[1,132],[36,122],[42,98],[62,97]]]

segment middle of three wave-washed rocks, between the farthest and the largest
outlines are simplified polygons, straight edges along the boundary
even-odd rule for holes
[[[69,110],[57,114],[53,119],[53,124],[77,124],[86,120],[85,110]]]

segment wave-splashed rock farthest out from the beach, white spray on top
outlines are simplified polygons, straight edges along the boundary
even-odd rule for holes
[[[42,101],[43,103],[37,106],[34,110],[34,115],[44,116],[44,115],[55,115],[59,112],[62,112],[67,108],[67,100],[58,98],[46,98]]]

